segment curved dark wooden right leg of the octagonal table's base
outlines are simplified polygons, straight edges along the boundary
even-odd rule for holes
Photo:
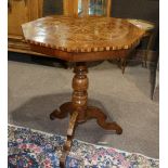
[[[115,121],[113,122],[105,121],[107,119],[107,116],[98,107],[89,106],[87,109],[87,118],[88,119],[95,118],[98,125],[101,126],[105,130],[115,130],[117,134],[122,133],[121,127],[118,126]]]

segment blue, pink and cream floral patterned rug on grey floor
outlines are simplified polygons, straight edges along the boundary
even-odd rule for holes
[[[9,168],[60,168],[65,138],[9,125]],[[158,159],[74,140],[66,168],[158,168]]]

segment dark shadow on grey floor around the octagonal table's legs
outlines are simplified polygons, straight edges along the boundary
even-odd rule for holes
[[[9,112],[9,122],[48,133],[66,135],[68,117],[65,119],[50,120],[49,116],[62,103],[69,101],[70,95],[70,93],[59,93],[35,96],[16,109]],[[88,101],[88,104],[98,106],[106,115],[108,114],[100,101],[91,99]],[[108,116],[107,120],[113,120],[113,116],[111,115],[111,118]],[[102,129],[96,125],[95,119],[92,119],[77,127],[75,138],[90,143],[96,143],[106,132],[109,131]],[[111,133],[114,134],[113,131]]]

